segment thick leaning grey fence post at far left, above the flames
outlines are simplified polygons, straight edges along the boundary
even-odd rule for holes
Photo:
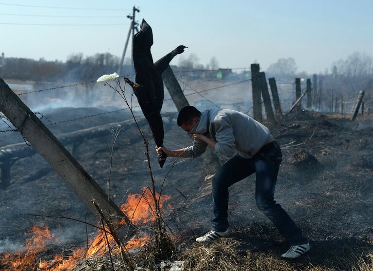
[[[127,216],[108,198],[88,172],[1,78],[0,111],[12,122],[22,136],[34,146],[35,150],[39,152],[51,168],[74,190],[89,210],[100,217],[91,202],[95,200],[102,208],[105,217],[111,217],[114,222],[123,219],[126,221],[124,227],[130,227],[131,223]],[[128,236],[131,237],[134,233],[135,228],[130,227]]]

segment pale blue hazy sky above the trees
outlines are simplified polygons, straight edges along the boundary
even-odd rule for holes
[[[0,0],[0,52],[120,57],[133,6],[136,20],[152,26],[154,60],[185,45],[184,57],[194,53],[203,65],[216,57],[220,68],[255,62],[265,70],[293,57],[298,71],[318,73],[355,51],[373,55],[371,0]]]

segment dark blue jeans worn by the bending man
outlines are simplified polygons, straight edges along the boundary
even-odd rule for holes
[[[277,142],[265,152],[258,152],[246,159],[236,155],[229,159],[212,179],[213,229],[218,232],[227,230],[228,224],[228,187],[256,173],[255,201],[258,209],[274,224],[280,234],[291,245],[307,243],[294,221],[273,199],[278,169],[282,154]]]

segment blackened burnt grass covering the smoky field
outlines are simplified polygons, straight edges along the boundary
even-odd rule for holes
[[[88,108],[79,110],[92,114]],[[60,110],[55,115],[51,114],[53,121],[66,119],[64,112]],[[191,140],[177,127],[176,114],[172,116],[165,121],[165,146],[172,149],[188,146]],[[85,120],[89,123],[75,121],[68,125],[56,125],[51,130],[58,135],[128,118],[128,114],[100,116]],[[271,129],[272,135],[283,146],[275,200],[302,228],[311,244],[309,253],[288,261],[294,269],[303,270],[312,266],[352,270],[360,257],[372,254],[372,127],[372,120],[351,122],[342,116],[303,112],[300,115],[290,114]],[[146,126],[142,129],[151,139],[149,129]],[[1,135],[1,146],[16,143],[11,136]],[[110,167],[106,144],[111,145],[111,141],[112,136],[86,141],[80,146],[77,157],[106,191]],[[153,173],[159,189],[173,159],[168,158],[164,168],[160,169],[154,148],[154,142],[150,140]],[[67,149],[70,150],[71,146]],[[120,132],[114,150],[109,189],[116,203],[124,203],[126,195],[140,193],[142,187],[151,185],[144,151],[135,125]],[[202,158],[182,160],[185,161],[170,171],[163,188],[163,193],[171,196],[163,211],[180,255],[196,249],[194,239],[210,229],[212,207],[211,185],[205,180],[208,172],[203,167]],[[220,160],[223,163],[225,158],[220,157]],[[85,224],[19,216],[55,215],[94,224],[98,222],[38,154],[18,160],[11,169],[11,176],[11,186],[0,190],[0,253],[19,248],[24,241],[24,233],[34,224],[49,226],[51,232],[59,237],[58,241],[48,244],[48,250],[43,253],[47,254],[47,258],[56,253],[68,254],[74,247],[85,246]],[[253,175],[238,182],[229,191],[231,238],[238,242],[235,251],[238,258],[261,254],[280,259],[288,244],[257,210],[254,178]],[[89,236],[93,232],[92,228],[88,228]],[[237,270],[240,269],[237,267]]]

